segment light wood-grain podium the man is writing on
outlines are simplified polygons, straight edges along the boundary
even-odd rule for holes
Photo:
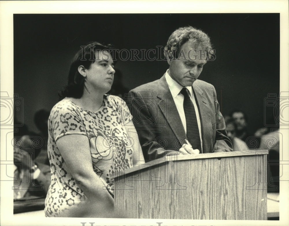
[[[171,155],[115,175],[128,218],[267,220],[267,150]]]

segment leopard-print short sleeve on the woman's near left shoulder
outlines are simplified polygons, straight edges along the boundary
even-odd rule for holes
[[[68,134],[86,135],[83,120],[76,107],[67,102],[56,104],[49,116],[49,132],[56,141]]]

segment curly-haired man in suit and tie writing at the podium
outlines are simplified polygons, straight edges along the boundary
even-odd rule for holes
[[[130,91],[132,99],[127,103],[146,161],[173,151],[232,151],[214,86],[197,80],[212,57],[211,49],[210,38],[203,31],[177,29],[164,49],[169,64],[165,74]]]

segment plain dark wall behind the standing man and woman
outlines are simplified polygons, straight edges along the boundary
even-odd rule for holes
[[[14,14],[14,94],[23,98],[24,123],[38,132],[34,113],[58,101],[79,46],[156,49],[187,25],[208,33],[216,49],[199,79],[215,86],[223,115],[240,108],[250,132],[264,126],[264,99],[279,95],[279,14]],[[132,89],[159,79],[168,64],[120,60],[116,68]]]

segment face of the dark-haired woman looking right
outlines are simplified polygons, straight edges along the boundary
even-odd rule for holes
[[[112,86],[115,72],[114,63],[108,51],[95,51],[95,59],[90,68],[85,69],[85,84],[88,91],[96,90],[105,94]]]

